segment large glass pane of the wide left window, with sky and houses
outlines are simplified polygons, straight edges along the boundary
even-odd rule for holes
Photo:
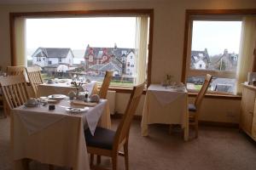
[[[117,23],[119,23],[117,25]],[[42,68],[44,80],[71,78],[131,87],[137,75],[136,17],[26,20],[27,66]]]

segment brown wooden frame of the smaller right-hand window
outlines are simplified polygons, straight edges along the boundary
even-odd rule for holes
[[[241,16],[247,14],[256,14],[255,9],[187,9],[185,15],[185,29],[183,41],[183,70],[181,82],[186,83],[187,77],[205,77],[207,73],[212,77],[236,78],[234,71],[207,71],[190,69],[190,58],[192,48],[192,26],[193,20],[239,20]],[[189,90],[189,93],[198,94],[198,90]],[[218,96],[236,96],[225,92],[210,92],[207,94],[216,94]]]

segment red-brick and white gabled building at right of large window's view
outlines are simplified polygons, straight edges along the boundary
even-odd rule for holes
[[[114,75],[135,76],[135,54],[133,48],[96,48],[87,46],[84,54],[85,70],[101,74],[113,70]],[[107,69],[108,68],[108,69]]]

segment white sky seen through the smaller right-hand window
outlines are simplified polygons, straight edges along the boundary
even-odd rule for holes
[[[239,54],[241,21],[193,21],[192,50],[204,50],[208,54]]]

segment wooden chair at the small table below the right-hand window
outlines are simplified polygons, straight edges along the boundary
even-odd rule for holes
[[[205,82],[195,98],[194,104],[189,104],[189,125],[195,127],[195,138],[198,137],[198,116],[201,109],[201,102],[207,93],[207,88],[209,87],[211,81],[212,75],[207,74]]]

